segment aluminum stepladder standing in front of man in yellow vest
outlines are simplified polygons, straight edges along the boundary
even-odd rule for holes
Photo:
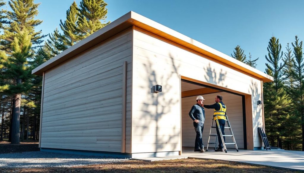
[[[209,144],[215,144],[214,150],[216,149],[216,145],[217,145],[217,135],[211,135],[212,128],[216,128],[216,126],[213,126],[214,117],[216,118],[216,119],[215,119],[215,122],[216,122],[217,127],[218,127],[218,130],[219,130],[219,135],[221,136],[221,139],[222,139],[222,141],[223,141],[224,151],[227,153],[226,145],[228,145],[228,144],[234,144],[234,147],[235,147],[235,149],[236,149],[237,152],[238,152],[239,149],[237,148],[237,142],[235,141],[235,138],[234,138],[234,135],[233,135],[233,132],[232,132],[232,129],[231,129],[231,126],[230,126],[230,122],[229,122],[229,119],[228,119],[228,116],[227,116],[227,115],[225,115],[225,117],[226,117],[226,120],[225,120],[225,121],[227,121],[228,127],[225,127],[225,128],[228,128],[228,129],[229,129],[231,135],[223,135],[223,134],[222,134],[221,128],[219,127],[219,121],[218,121],[218,119],[217,119],[217,116],[216,116],[216,115],[213,115],[213,117],[212,117],[212,124],[211,124],[210,132],[209,132],[209,139],[208,139],[208,144],[207,144],[207,149],[206,149],[206,151],[208,151]],[[211,136],[215,136],[215,137],[216,137],[215,142],[210,143],[210,137],[211,137]],[[225,141],[224,141],[224,136],[231,136],[231,137],[232,137],[233,143],[225,143]]]

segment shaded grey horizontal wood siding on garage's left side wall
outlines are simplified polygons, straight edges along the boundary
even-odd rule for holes
[[[130,107],[132,38],[126,29],[45,73],[42,148],[121,152],[123,62]]]

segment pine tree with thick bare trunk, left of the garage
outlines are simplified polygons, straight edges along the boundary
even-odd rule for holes
[[[21,95],[31,88],[29,80],[31,79],[31,68],[28,65],[28,59],[32,56],[31,35],[26,30],[15,35],[12,42],[12,55],[5,62],[5,78],[12,80],[9,90],[6,92],[13,95],[13,114],[12,114],[12,144],[19,143],[19,126],[20,126],[20,103]],[[5,54],[2,54],[5,55]]]

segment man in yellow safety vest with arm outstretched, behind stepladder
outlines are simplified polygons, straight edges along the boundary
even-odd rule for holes
[[[213,105],[203,105],[204,108],[207,108],[207,109],[214,109],[214,120],[216,120],[216,117],[217,116],[217,119],[219,120],[219,127],[221,128],[221,131],[222,131],[222,134],[225,135],[225,132],[224,132],[224,129],[225,129],[225,120],[226,120],[226,105],[223,103],[223,97],[221,95],[217,95],[216,98],[215,98],[215,104]],[[219,139],[219,148],[216,149],[215,151],[224,151],[224,146],[223,146],[223,141],[222,141],[222,138],[221,136],[219,135],[219,129],[217,127],[217,123],[216,123],[216,133],[217,133],[217,137]],[[225,136],[223,136],[224,138],[224,141],[225,141]]]

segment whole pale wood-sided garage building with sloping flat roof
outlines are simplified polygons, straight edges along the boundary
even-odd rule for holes
[[[238,147],[263,148],[263,83],[273,78],[135,12],[32,73],[43,76],[41,151],[181,155],[182,147],[194,147],[188,112],[195,97],[213,104],[218,94]],[[212,111],[206,109],[205,146]]]

